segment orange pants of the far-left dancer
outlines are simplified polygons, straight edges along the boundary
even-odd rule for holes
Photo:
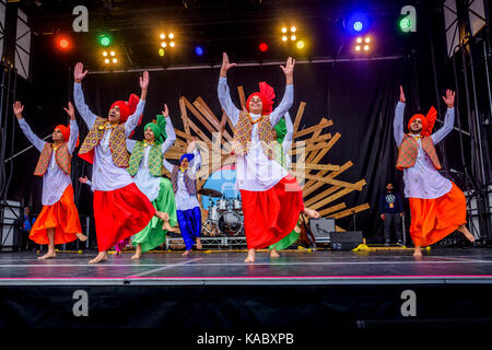
[[[65,244],[77,240],[82,233],[79,211],[73,202],[73,187],[68,185],[60,200],[52,206],[44,206],[31,229],[30,238],[37,244],[48,244],[47,229],[55,229],[55,244]]]

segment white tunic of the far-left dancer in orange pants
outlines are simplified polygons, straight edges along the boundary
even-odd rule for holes
[[[30,126],[24,119],[17,119],[19,125],[25,137],[33,143],[33,145],[42,152],[47,142],[39,139],[31,130]],[[75,120],[70,120],[70,138],[68,141],[68,151],[72,154],[75,149],[77,139],[79,138],[79,127]],[[63,172],[57,164],[56,152],[51,152],[49,166],[43,175],[43,206],[52,206],[60,200],[67,186],[72,182],[70,176]]]

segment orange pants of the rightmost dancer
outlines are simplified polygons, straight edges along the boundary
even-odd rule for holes
[[[467,201],[455,184],[449,192],[440,198],[409,200],[410,235],[415,246],[434,244],[467,223]]]

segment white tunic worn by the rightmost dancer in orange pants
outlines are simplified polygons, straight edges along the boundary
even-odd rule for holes
[[[403,140],[405,103],[398,102],[395,110],[394,136],[398,147]],[[448,108],[444,117],[444,126],[431,135],[434,145],[441,142],[452,130],[455,122],[455,108]],[[409,133],[411,137],[419,135]],[[450,191],[453,184],[435,168],[427,153],[422,149],[421,138],[417,138],[419,151],[415,164],[403,168],[405,197],[438,198]]]

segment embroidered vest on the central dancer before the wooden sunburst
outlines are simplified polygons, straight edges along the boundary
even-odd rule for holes
[[[251,130],[253,122],[249,116],[245,112],[239,113],[239,119],[235,126],[234,139],[232,143],[232,152],[234,154],[247,154],[251,144]],[[262,119],[258,121],[258,138],[261,141],[265,155],[269,160],[273,160],[274,156],[274,142],[273,142],[273,128],[270,124],[270,116],[265,115]]]

